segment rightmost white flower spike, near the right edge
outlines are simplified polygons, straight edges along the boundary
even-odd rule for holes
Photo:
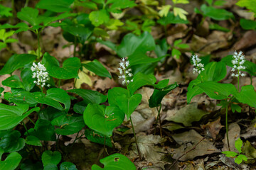
[[[242,66],[242,64],[245,63],[245,55],[242,55],[242,52],[240,51],[235,52],[233,55],[233,60],[231,61],[233,64],[233,68],[231,69],[232,72],[235,72],[235,69],[238,69],[237,74],[233,73],[231,74],[232,77],[245,77],[245,74],[241,73],[240,69],[245,69],[245,66]]]

